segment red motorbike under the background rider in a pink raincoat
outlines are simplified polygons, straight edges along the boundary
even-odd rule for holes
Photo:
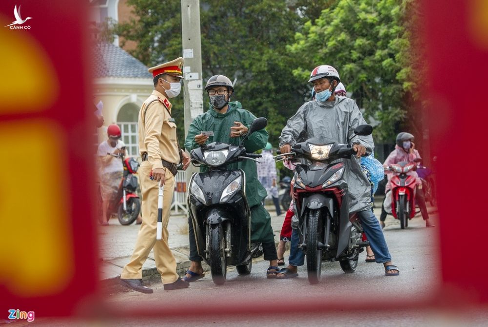
[[[385,168],[385,171],[398,173],[391,177],[391,214],[400,220],[400,228],[408,227],[408,220],[413,218],[415,211],[416,178],[407,175],[408,172],[417,170],[417,162],[401,161]]]

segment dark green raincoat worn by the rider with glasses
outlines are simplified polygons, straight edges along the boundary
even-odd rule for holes
[[[252,121],[256,119],[249,111],[242,109],[238,101],[230,102],[229,109],[226,113],[219,113],[210,106],[210,109],[199,115],[193,120],[186,136],[184,147],[191,151],[199,147],[195,142],[195,136],[201,131],[213,131],[214,136],[210,136],[208,143],[223,142],[232,145],[239,145],[240,137],[230,137],[230,128],[234,122],[241,122],[249,128]],[[252,133],[244,142],[247,153],[252,153],[263,149],[268,141],[268,132],[266,130]],[[273,229],[271,228],[271,217],[264,209],[262,201],[266,197],[266,190],[258,180],[256,163],[252,160],[244,160],[238,163],[228,165],[229,169],[242,169],[246,177],[246,196],[251,209],[251,241],[252,242],[274,242]],[[200,167],[200,172],[207,171],[206,166]]]

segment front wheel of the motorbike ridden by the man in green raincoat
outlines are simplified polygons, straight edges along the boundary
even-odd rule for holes
[[[212,281],[222,285],[227,278],[227,262],[225,261],[224,226],[222,223],[210,225],[208,228],[209,262]]]

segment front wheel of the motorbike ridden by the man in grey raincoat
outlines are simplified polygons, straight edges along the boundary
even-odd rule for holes
[[[306,270],[308,283],[316,284],[320,282],[322,271],[322,247],[319,249],[319,242],[324,241],[324,220],[320,217],[319,209],[311,209],[308,212],[307,228],[305,235],[306,242]]]

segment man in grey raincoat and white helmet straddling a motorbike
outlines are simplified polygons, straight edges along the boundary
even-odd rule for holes
[[[341,82],[339,73],[334,67],[329,65],[315,67],[308,82],[313,83],[315,99],[302,105],[297,113],[288,119],[280,136],[282,153],[290,152],[292,145],[312,137],[326,137],[339,143],[351,143],[354,129],[366,124],[354,100],[334,95],[335,88]],[[344,172],[349,187],[350,213],[357,213],[361,219],[376,262],[384,264],[386,276],[398,275],[399,269],[391,264],[391,256],[378,219],[371,212],[371,184],[362,172],[359,162],[360,156],[373,151],[373,138],[371,135],[357,136],[352,140],[351,145],[357,157],[345,160],[346,171]],[[298,276],[297,266],[304,264],[305,254],[297,246],[298,233],[293,231],[290,265],[282,269],[282,274],[279,274],[278,278]]]

